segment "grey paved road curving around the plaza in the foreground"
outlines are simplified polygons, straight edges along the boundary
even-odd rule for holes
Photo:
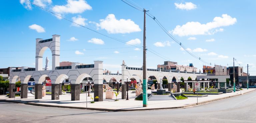
[[[0,122],[256,123],[256,91],[183,109],[150,111],[105,112],[0,102]]]

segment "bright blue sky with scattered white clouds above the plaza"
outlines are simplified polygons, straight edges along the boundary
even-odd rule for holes
[[[104,35],[142,46],[143,12],[121,0],[30,1]],[[246,72],[248,63],[251,65],[250,75],[256,75],[256,1],[127,1],[149,10],[170,34],[204,61],[232,66],[235,57],[236,66],[244,66]],[[181,49],[153,19],[149,16],[146,19],[148,49],[153,49],[169,61],[176,61],[180,65],[193,63],[202,69],[202,61]],[[104,68],[114,73],[120,71],[122,60],[128,66],[142,66],[142,50],[59,19],[24,0],[3,0],[0,4],[0,29],[1,68],[35,67],[35,39],[49,39],[54,34],[61,35],[60,61],[90,64],[100,60],[104,61]],[[49,49],[43,59],[46,56],[51,61]],[[163,61],[166,60],[147,52],[148,68],[156,68]]]

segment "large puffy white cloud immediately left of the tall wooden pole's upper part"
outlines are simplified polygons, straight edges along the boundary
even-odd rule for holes
[[[100,19],[100,23],[95,23],[100,29],[105,29],[109,34],[125,34],[132,32],[140,32],[139,25],[135,24],[131,19],[117,20],[114,14],[109,14],[105,19]]]

